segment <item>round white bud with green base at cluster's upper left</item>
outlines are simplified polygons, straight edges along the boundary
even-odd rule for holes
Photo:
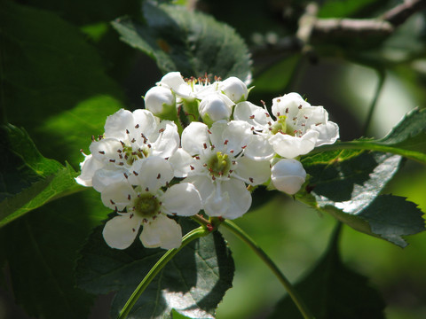
[[[146,110],[165,120],[177,118],[176,97],[171,89],[156,86],[149,89],[145,96]]]

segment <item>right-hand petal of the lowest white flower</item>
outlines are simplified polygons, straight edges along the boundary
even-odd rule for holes
[[[161,198],[169,213],[192,216],[201,210],[200,193],[192,183],[178,183],[170,187]]]

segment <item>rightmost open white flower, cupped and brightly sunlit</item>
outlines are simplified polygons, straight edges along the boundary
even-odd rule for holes
[[[333,144],[339,137],[337,124],[328,121],[322,106],[312,106],[297,93],[272,100],[272,114],[250,102],[235,106],[234,119],[248,121],[254,131],[268,139],[275,152],[292,159],[314,147]]]

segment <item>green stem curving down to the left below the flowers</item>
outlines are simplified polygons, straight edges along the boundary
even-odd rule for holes
[[[195,230],[190,231],[182,238],[182,245],[179,248],[170,249],[166,253],[162,255],[162,258],[157,261],[151,270],[149,270],[148,274],[145,278],[138,284],[138,287],[131,294],[129,300],[127,300],[124,307],[122,307],[122,311],[120,315],[118,315],[118,319],[124,319],[129,315],[131,308],[135,305],[136,301],[139,299],[142,292],[146,290],[148,284],[154,279],[155,276],[162,270],[162,268],[173,258],[175,254],[177,254],[185,245],[191,243],[194,239],[204,237],[209,235],[209,230],[206,230],[204,227],[199,227]]]

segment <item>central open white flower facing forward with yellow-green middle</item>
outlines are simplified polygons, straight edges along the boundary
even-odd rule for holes
[[[206,214],[234,219],[251,206],[246,183],[269,179],[272,155],[247,122],[217,121],[211,128],[192,122],[182,133],[182,148],[169,160],[175,176],[186,177],[200,191]]]

